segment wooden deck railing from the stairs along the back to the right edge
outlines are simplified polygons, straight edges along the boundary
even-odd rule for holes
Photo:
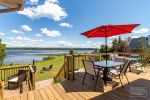
[[[108,53],[107,59],[111,59],[110,55],[113,54],[126,57],[139,55],[140,59],[143,59],[144,56],[150,56],[150,53]],[[74,80],[74,71],[83,68],[82,60],[88,60],[90,56],[94,56],[97,61],[106,59],[106,53],[65,55],[64,64],[58,74],[54,77],[54,81],[58,82],[61,81],[61,79]]]

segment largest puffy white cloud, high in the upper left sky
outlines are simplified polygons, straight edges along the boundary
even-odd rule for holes
[[[64,8],[58,5],[57,0],[46,0],[44,4],[24,8],[18,14],[25,15],[31,19],[46,17],[55,21],[59,21],[68,16]]]

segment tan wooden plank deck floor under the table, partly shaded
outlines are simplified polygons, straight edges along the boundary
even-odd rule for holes
[[[74,81],[49,84],[43,88],[17,94],[4,100],[150,100],[149,72],[139,75],[128,73],[130,85],[126,84],[127,81],[123,78],[124,88],[119,85],[111,89],[112,84],[119,82],[117,78],[113,79],[116,82],[111,82],[111,85],[108,83],[108,86],[102,88],[103,82],[99,79],[96,91],[93,91],[94,80],[91,77],[86,77],[85,84],[82,86],[83,75],[84,71],[78,71]],[[131,87],[146,88],[146,96],[131,96]]]

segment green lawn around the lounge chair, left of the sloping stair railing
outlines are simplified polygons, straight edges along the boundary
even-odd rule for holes
[[[35,76],[36,81],[50,79],[56,76],[56,74],[62,67],[63,63],[64,63],[64,56],[62,55],[52,60],[44,60],[44,61],[36,62],[35,63],[37,67],[36,76]],[[51,64],[53,64],[53,67],[50,71],[44,71],[43,73],[40,73],[40,70],[42,69],[42,67],[49,67]]]

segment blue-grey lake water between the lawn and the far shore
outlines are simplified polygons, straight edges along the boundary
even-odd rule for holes
[[[6,52],[5,64],[25,64],[31,63],[33,60],[42,61],[44,57],[47,57],[38,54],[63,54],[69,53],[69,50],[7,50]],[[93,50],[74,50],[74,52],[89,53]]]

